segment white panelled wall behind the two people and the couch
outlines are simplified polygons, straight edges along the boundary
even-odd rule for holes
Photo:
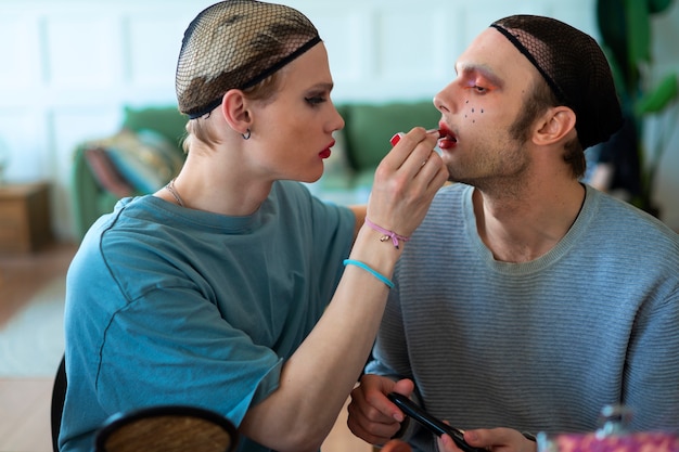
[[[175,103],[175,64],[183,30],[212,3],[0,0],[0,140],[12,153],[7,177],[52,182],[59,236],[74,235],[74,146],[115,132],[125,104]],[[335,101],[431,99],[450,81],[457,55],[473,37],[505,15],[551,15],[598,34],[593,0],[286,3],[319,28],[330,53]],[[679,68],[679,8],[658,22],[664,67]],[[666,221],[679,229],[677,147],[665,157],[658,195]]]

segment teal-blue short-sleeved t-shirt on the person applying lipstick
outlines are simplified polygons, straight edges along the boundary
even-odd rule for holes
[[[274,183],[246,217],[120,201],[68,270],[62,450],[91,450],[108,416],[156,404],[238,426],[323,313],[354,224],[296,182]]]

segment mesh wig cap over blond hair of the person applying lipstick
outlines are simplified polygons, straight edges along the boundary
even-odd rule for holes
[[[321,38],[299,11],[254,0],[227,0],[201,12],[184,31],[175,87],[179,111],[196,118],[230,89],[260,82]]]

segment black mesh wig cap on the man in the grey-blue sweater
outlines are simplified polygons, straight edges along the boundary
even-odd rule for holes
[[[554,18],[514,15],[490,25],[542,75],[576,115],[582,148],[606,141],[623,125],[608,62],[593,38]]]

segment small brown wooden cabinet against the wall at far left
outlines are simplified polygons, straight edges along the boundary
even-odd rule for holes
[[[49,184],[0,184],[0,253],[35,251],[51,238]]]

